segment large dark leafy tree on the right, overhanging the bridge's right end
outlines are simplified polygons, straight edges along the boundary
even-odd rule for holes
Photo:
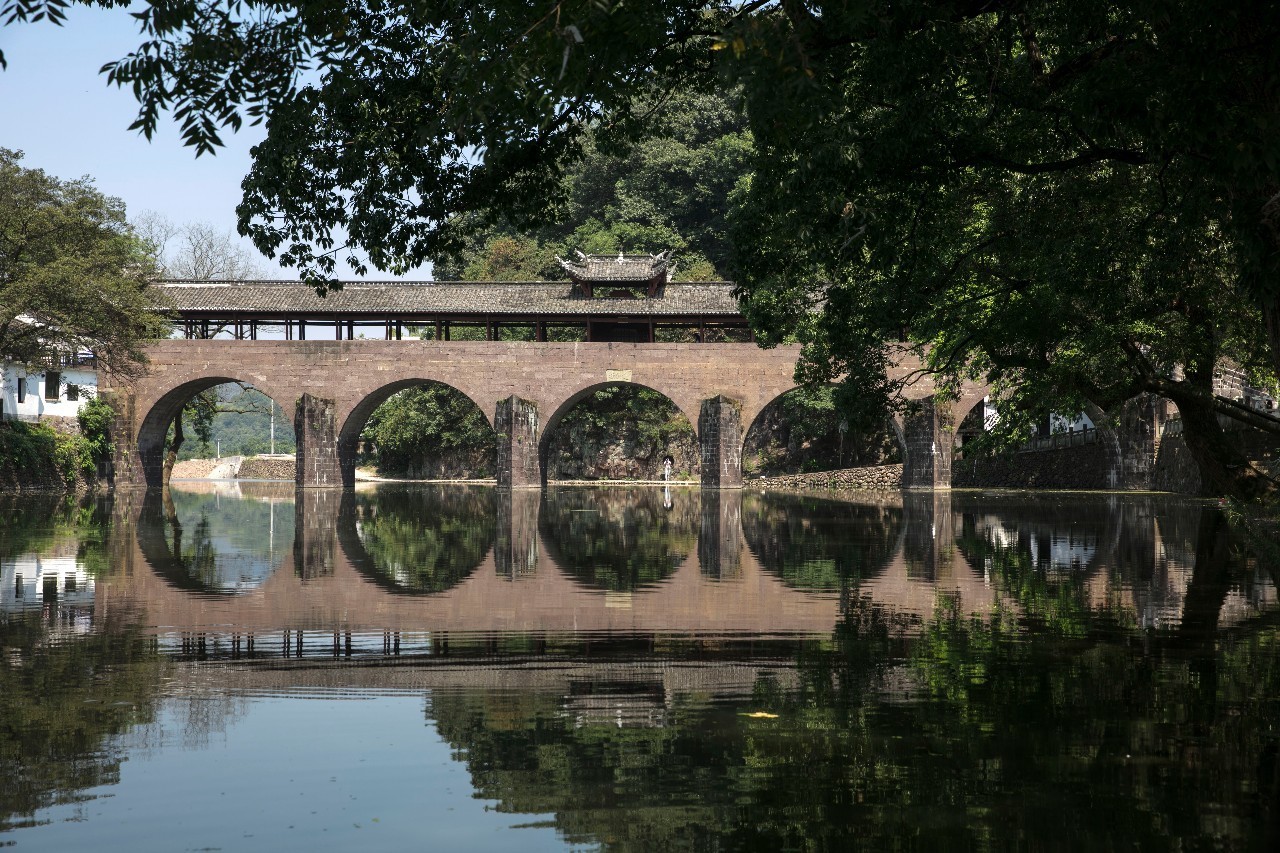
[[[906,330],[938,373],[986,374],[1009,433],[1153,392],[1178,403],[1206,491],[1274,489],[1217,418],[1280,421],[1215,397],[1212,378],[1224,357],[1275,378],[1253,233],[1266,197],[1235,182],[1268,169],[1238,113],[1276,113],[1230,74],[1274,73],[1254,36],[1276,20],[1213,15],[914,4],[887,27],[849,22],[794,97],[750,86],[760,158],[735,210],[758,332],[799,330],[803,373],[824,382],[878,374]],[[780,86],[771,33],[826,38],[803,18],[756,23],[749,61]]]

